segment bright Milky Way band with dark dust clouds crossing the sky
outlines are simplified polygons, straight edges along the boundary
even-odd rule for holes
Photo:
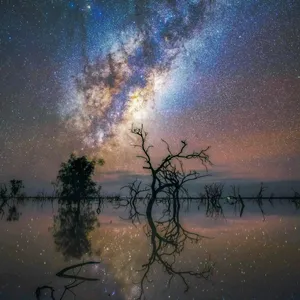
[[[174,60],[199,35],[206,1],[137,1],[108,53],[86,62],[75,79],[75,101],[65,113],[89,146],[100,146],[124,122],[142,121],[164,88]],[[90,6],[89,6],[90,7]],[[83,10],[82,13],[85,13]],[[157,99],[156,99],[157,101]],[[151,103],[152,105],[149,105]]]

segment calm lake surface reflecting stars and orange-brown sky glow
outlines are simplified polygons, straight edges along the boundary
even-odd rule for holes
[[[172,245],[159,254],[173,273],[155,256],[151,230],[133,226],[124,208],[104,205],[60,207],[57,203],[19,206],[17,221],[0,221],[0,299],[136,299],[141,280],[147,299],[300,299],[300,212],[290,204],[265,205],[266,220],[255,207],[242,218],[232,210],[224,218],[209,218],[192,204],[181,207],[180,225],[205,238],[198,243],[178,236],[182,252],[170,255]],[[156,208],[155,219],[162,211]],[[147,229],[148,228],[148,229]],[[181,230],[181,229],[180,229]],[[161,235],[163,237],[163,231]],[[183,241],[183,242],[182,242]],[[155,251],[154,251],[155,252]],[[154,255],[154,256],[153,256]],[[143,265],[151,262],[148,267]],[[73,268],[65,278],[56,273],[83,262],[100,262]],[[160,262],[160,263],[159,263]],[[209,269],[209,276],[195,276]],[[169,271],[169,273],[168,273]],[[76,280],[74,276],[84,277]],[[87,279],[98,279],[95,281]],[[65,290],[65,286],[75,286]],[[77,283],[79,285],[77,285]],[[62,297],[63,292],[65,294]],[[73,294],[74,293],[74,294]]]

